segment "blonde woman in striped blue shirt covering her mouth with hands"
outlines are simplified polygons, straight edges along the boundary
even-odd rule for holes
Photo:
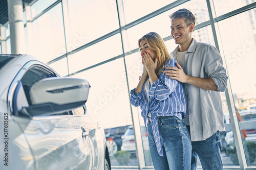
[[[183,122],[186,98],[182,83],[169,79],[163,70],[176,67],[163,39],[154,32],[139,39],[143,72],[131,90],[131,103],[140,106],[148,131],[155,169],[190,169],[191,141]]]

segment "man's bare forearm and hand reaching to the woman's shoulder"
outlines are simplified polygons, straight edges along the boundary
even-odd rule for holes
[[[211,78],[203,79],[193,76],[188,76],[184,73],[182,67],[176,63],[177,67],[166,67],[164,73],[166,76],[169,76],[170,79],[178,80],[182,83],[188,83],[205,90],[214,90],[217,91],[218,87],[215,84],[214,80]]]

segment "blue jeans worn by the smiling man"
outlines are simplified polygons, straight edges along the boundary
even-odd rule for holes
[[[190,132],[189,126],[187,126],[187,129]],[[198,157],[204,170],[223,169],[221,160],[221,148],[222,144],[219,131],[206,140],[193,141],[191,169],[197,169]]]

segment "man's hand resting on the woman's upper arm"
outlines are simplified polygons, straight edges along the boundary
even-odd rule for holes
[[[188,76],[184,73],[180,64],[176,63],[176,67],[165,67],[164,73],[169,76],[170,79],[178,80],[182,83],[187,83]],[[168,70],[167,70],[168,69]]]

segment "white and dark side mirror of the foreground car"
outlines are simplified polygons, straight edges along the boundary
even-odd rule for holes
[[[29,116],[68,111],[87,102],[90,84],[78,78],[46,78],[34,83],[29,91],[32,105],[22,109]]]

